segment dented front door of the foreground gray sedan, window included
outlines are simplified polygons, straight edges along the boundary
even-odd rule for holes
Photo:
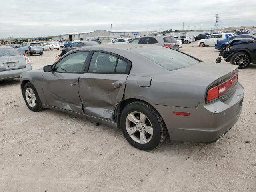
[[[45,72],[42,87],[48,105],[83,114],[78,94],[78,80],[84,72],[89,52],[67,54],[54,64],[52,72]]]

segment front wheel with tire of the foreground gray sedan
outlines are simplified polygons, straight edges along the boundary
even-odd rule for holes
[[[44,109],[38,93],[36,92],[36,88],[30,82],[26,83],[23,88],[23,98],[30,110],[37,112]]]

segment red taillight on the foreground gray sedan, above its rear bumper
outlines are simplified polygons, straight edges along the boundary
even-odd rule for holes
[[[210,88],[207,92],[206,101],[210,101],[218,98],[219,96],[224,95],[230,88],[232,88],[238,82],[238,73],[226,80],[222,84],[216,85],[213,88]]]

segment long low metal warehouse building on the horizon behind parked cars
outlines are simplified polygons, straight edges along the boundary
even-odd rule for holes
[[[150,35],[156,33],[156,31],[149,30],[96,30],[96,31],[86,31],[86,32],[74,32],[62,34],[62,39],[66,40],[75,40],[75,39],[90,39],[97,38],[105,40],[106,42],[110,41],[113,37],[126,37],[126,38],[135,38],[136,36]]]

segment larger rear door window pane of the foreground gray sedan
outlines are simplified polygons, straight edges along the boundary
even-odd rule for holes
[[[94,52],[88,72],[114,73],[117,57],[110,54]]]

